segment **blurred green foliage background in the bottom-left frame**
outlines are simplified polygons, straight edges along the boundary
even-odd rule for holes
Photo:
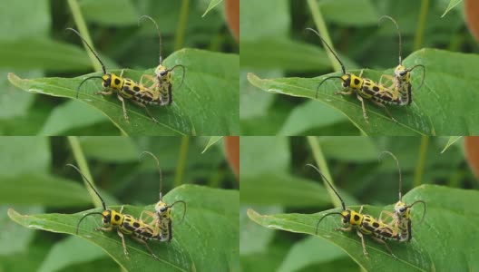
[[[201,152],[209,137],[2,137],[0,140],[0,271],[120,270],[101,248],[82,238],[24,228],[7,216],[7,209],[21,214],[77,213],[92,209],[92,198],[81,176],[65,166],[79,164],[73,150],[83,151],[107,206],[145,206],[158,201],[160,182],[156,162],[149,156],[140,161],[142,151],[151,151],[160,160],[163,195],[181,184],[239,188],[225,159],[231,157],[231,152],[235,157],[234,151],[238,151],[233,148],[231,138],[220,139],[204,153]]]

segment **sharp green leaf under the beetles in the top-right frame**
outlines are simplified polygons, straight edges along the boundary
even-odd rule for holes
[[[359,130],[366,135],[469,135],[479,133],[476,114],[479,108],[479,93],[475,92],[479,81],[479,55],[451,53],[435,49],[422,49],[406,58],[406,67],[425,65],[425,81],[421,89],[421,69],[412,73],[414,102],[408,107],[387,105],[398,121],[392,121],[384,110],[366,101],[369,122],[363,118],[361,103],[355,95],[335,95],[340,90],[339,81],[329,80],[321,85],[318,101],[327,103],[347,115]],[[351,71],[352,72],[352,71]],[[354,73],[358,73],[354,71]],[[381,73],[365,70],[365,77],[378,81]],[[338,75],[335,73],[334,75]],[[249,82],[267,92],[315,99],[320,83],[327,76],[317,78],[260,79],[249,73]],[[460,90],[460,91],[458,91]],[[460,92],[461,94],[458,94]],[[455,114],[452,114],[455,112]],[[314,116],[310,118],[315,118]]]

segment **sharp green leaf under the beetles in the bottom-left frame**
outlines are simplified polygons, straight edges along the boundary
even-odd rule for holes
[[[127,271],[238,271],[239,270],[239,193],[234,190],[209,189],[183,185],[163,198],[167,203],[182,199],[187,203],[185,219],[181,205],[172,211],[173,239],[170,243],[149,242],[155,260],[144,246],[125,237],[130,259],[123,254],[122,240],[116,232],[94,231],[101,225],[99,217],[83,220],[79,236],[100,246]],[[120,207],[109,207],[119,210]],[[124,206],[123,212],[138,218],[142,210],[153,206]],[[78,220],[91,209],[76,214],[21,215],[14,209],[8,214],[18,224],[34,229],[75,235]]]

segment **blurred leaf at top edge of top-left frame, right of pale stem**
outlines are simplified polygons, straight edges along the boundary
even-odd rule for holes
[[[83,0],[79,5],[87,21],[120,26],[138,24],[139,15],[131,0]]]

